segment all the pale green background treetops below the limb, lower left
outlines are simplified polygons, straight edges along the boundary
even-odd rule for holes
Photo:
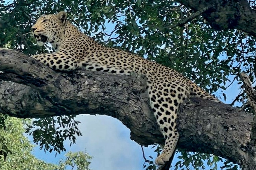
[[[0,116],[3,115],[0,114]],[[29,119],[5,116],[5,128],[0,129],[0,141],[3,143],[0,145],[0,149],[2,146],[8,147],[9,154],[7,158],[0,157],[1,170],[66,170],[67,166],[72,168],[76,166],[77,170],[89,170],[88,166],[92,157],[84,152],[68,152],[66,159],[59,161],[59,165],[35,158],[31,154],[34,145],[23,134],[25,132],[24,126],[30,124],[31,120]]]

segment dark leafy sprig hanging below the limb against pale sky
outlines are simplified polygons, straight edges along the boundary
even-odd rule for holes
[[[75,115],[57,116],[44,119],[36,119],[31,125],[27,125],[26,133],[33,136],[33,142],[39,144],[44,151],[61,153],[66,151],[64,141],[69,139],[70,145],[75,143],[76,136],[81,136],[75,121]]]

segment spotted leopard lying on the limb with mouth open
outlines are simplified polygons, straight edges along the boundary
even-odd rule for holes
[[[55,50],[32,56],[53,70],[83,69],[120,75],[136,73],[146,77],[149,105],[165,139],[162,152],[155,159],[156,165],[168,162],[175,151],[179,139],[177,112],[186,98],[194,95],[221,103],[174,69],[98,43],[67,20],[65,11],[42,15],[31,27],[31,32],[39,46],[50,43]]]

